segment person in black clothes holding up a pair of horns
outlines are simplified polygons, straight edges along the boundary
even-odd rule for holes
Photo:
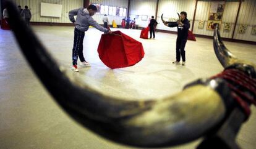
[[[173,64],[179,64],[182,58],[182,65],[185,65],[185,46],[187,42],[187,36],[189,35],[190,23],[187,20],[187,12],[181,12],[181,20],[178,22],[163,22],[164,25],[169,27],[177,26],[177,40],[176,40],[176,61]]]

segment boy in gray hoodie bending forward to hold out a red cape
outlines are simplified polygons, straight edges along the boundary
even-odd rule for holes
[[[94,26],[100,31],[103,31],[104,33],[112,33],[107,28],[103,28],[103,26],[100,26],[95,20],[93,20],[92,15],[94,15],[96,11],[97,8],[93,4],[88,6],[88,8],[82,7],[80,9],[74,9],[69,11],[69,20],[75,24],[71,67],[71,70],[73,71],[79,71],[79,69],[77,68],[78,57],[81,61],[80,66],[90,66],[90,63],[88,63],[83,57],[83,38],[85,37],[85,31],[88,30],[90,25]],[[74,18],[75,15],[77,16],[76,19]]]

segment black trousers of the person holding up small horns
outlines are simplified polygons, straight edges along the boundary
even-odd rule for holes
[[[182,61],[186,62],[186,56],[185,56],[185,46],[186,46],[187,38],[177,38],[176,41],[176,61],[179,62]]]

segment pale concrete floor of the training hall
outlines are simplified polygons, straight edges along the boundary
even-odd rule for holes
[[[33,26],[38,38],[67,69],[71,79],[126,100],[154,99],[182,90],[197,78],[208,78],[223,70],[213,52],[212,39],[187,41],[186,66],[175,60],[176,35],[156,33],[155,40],[140,39],[140,30],[121,30],[142,42],[145,57],[137,65],[111,70],[98,57],[101,32],[85,33],[84,55],[92,64],[72,72],[74,27]],[[117,30],[117,29],[113,29]],[[224,42],[239,58],[256,63],[256,46]],[[0,30],[0,148],[133,148],[93,134],[77,124],[53,101],[20,53],[11,31]],[[242,148],[256,148],[256,108],[237,137]],[[195,148],[201,139],[172,148]]]

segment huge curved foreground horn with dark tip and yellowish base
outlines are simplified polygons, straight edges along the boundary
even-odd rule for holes
[[[224,117],[223,100],[210,86],[196,85],[164,99],[137,101],[74,84],[25,25],[13,2],[7,1],[7,10],[11,10],[11,28],[23,55],[54,100],[83,126],[108,139],[140,147],[176,145],[197,139]]]

